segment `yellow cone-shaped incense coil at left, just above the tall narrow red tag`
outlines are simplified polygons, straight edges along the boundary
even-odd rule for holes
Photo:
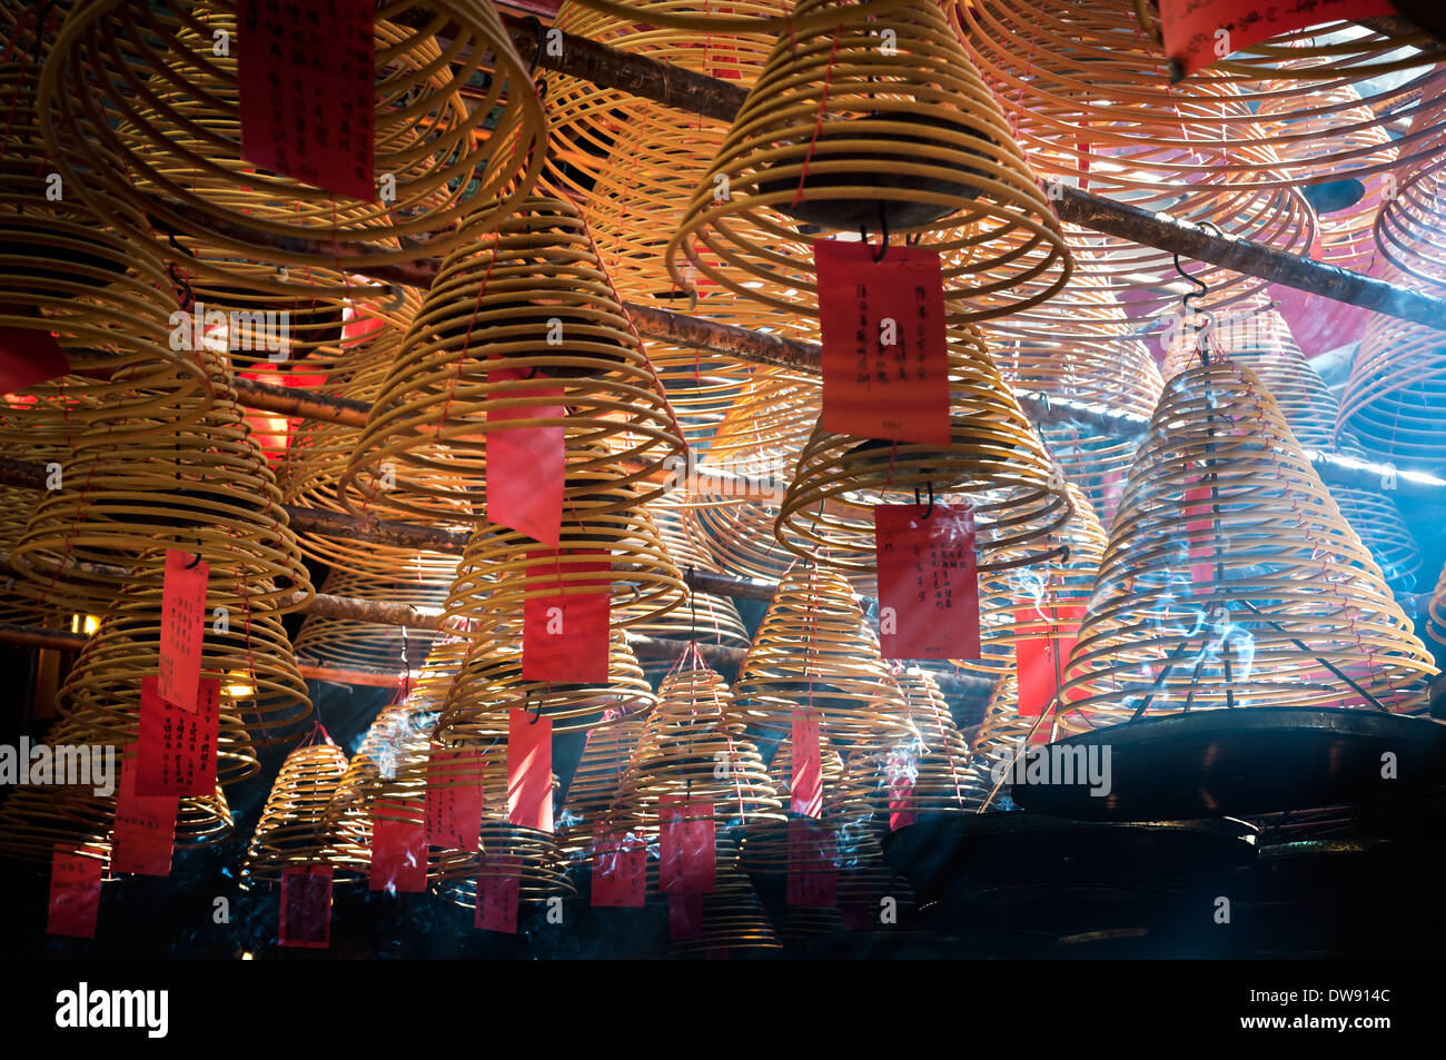
[[[311,597],[270,466],[218,367],[213,383],[215,403],[195,424],[121,445],[77,440],[62,487],[39,497],[10,552],[22,591],[103,613],[136,557],[165,544],[234,574],[241,599],[214,606],[266,615]]]

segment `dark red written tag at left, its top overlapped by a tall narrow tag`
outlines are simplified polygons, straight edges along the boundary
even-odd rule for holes
[[[140,678],[137,795],[214,795],[221,683],[201,681],[194,710],[166,703],[155,677]]]

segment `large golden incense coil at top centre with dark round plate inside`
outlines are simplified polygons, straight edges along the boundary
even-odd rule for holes
[[[875,20],[836,0],[794,9],[823,13],[836,29],[779,36],[694,189],[668,244],[680,288],[706,279],[817,318],[813,233],[862,226],[938,250],[959,318],[1058,291],[1069,275],[1058,221],[943,12],[925,0]],[[889,33],[897,46],[881,48]],[[726,197],[716,176],[727,178]]]

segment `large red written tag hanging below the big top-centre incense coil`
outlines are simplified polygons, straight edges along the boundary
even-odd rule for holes
[[[818,425],[859,438],[947,445],[949,340],[938,255],[814,243],[823,334]]]

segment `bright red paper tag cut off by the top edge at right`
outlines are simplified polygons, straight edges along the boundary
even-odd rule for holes
[[[1181,77],[1209,67],[1244,48],[1338,19],[1356,22],[1395,14],[1385,0],[1160,0],[1160,32],[1165,55],[1180,64]]]

